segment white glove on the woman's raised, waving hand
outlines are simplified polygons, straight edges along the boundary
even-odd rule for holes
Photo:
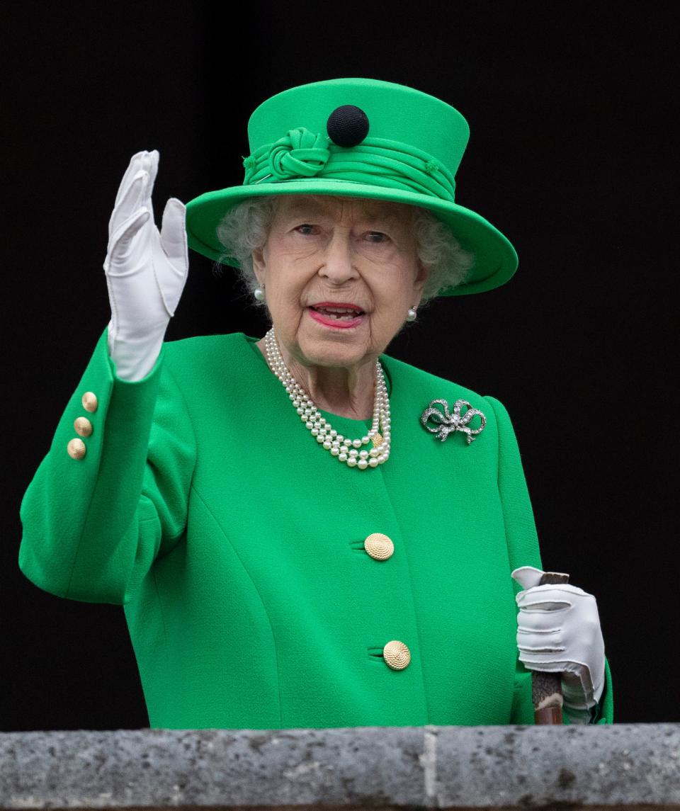
[[[141,380],[153,369],[187,281],[183,203],[170,197],[160,234],[153,221],[157,170],[156,149],[132,156],[109,221],[104,260],[111,305],[108,345],[123,380]]]

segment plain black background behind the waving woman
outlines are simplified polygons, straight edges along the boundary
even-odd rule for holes
[[[510,238],[519,270],[434,303],[389,352],[506,404],[544,567],[598,599],[616,721],[680,721],[675,12],[225,9],[28,2],[3,24],[2,729],[148,726],[122,607],[54,597],[17,564],[21,497],[110,317],[101,263],[131,154],[161,153],[158,215],[170,195],[243,181],[261,101],[342,76],[409,84],[467,118],[456,199]],[[261,335],[231,274],[190,260],[168,337]]]

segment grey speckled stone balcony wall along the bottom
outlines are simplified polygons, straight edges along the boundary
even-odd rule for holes
[[[0,809],[680,809],[680,724],[0,734]]]

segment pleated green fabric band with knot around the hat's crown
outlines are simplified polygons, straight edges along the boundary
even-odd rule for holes
[[[244,157],[243,166],[243,186],[315,177],[417,191],[454,202],[455,180],[449,169],[422,149],[386,138],[364,138],[355,147],[340,147],[328,135],[298,127]]]

